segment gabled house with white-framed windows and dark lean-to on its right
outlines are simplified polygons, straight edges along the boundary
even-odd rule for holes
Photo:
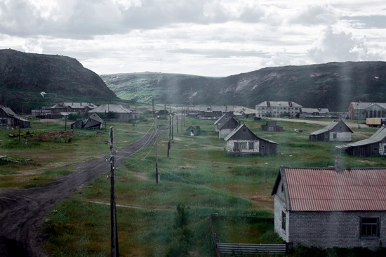
[[[228,154],[276,154],[278,143],[260,138],[245,124],[241,124],[224,138]]]

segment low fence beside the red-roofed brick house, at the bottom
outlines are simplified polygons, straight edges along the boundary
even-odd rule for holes
[[[212,216],[209,213],[209,227],[211,228],[211,237],[215,247],[216,257],[227,256],[227,254],[270,254],[284,255],[286,251],[291,250],[291,244],[229,244],[218,243],[212,225]]]

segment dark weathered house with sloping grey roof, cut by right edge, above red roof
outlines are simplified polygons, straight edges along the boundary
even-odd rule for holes
[[[382,126],[370,138],[345,145],[337,145],[338,152],[347,152],[357,157],[369,157],[371,155],[386,155],[386,127]]]

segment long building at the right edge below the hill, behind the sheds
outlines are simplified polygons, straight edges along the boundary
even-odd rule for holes
[[[386,103],[352,102],[347,114],[348,119],[364,120],[366,118],[386,117]]]

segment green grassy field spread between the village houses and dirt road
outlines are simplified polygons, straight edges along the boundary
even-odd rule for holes
[[[218,140],[214,121],[187,119],[186,126],[174,128],[167,157],[168,133],[159,138],[159,184],[155,176],[155,145],[143,148],[124,160],[116,170],[117,220],[121,256],[167,256],[179,233],[176,206],[185,204],[189,219],[188,256],[213,256],[208,214],[221,242],[274,243],[273,197],[270,196],[280,166],[326,167],[338,156],[334,143],[309,142],[308,135],[324,126],[278,121],[281,133],[262,131],[267,120],[245,119],[258,136],[279,143],[278,153],[266,156],[228,156],[224,140]],[[163,126],[168,120],[159,119]],[[152,131],[153,120],[114,126],[118,155],[126,147]],[[68,126],[68,124],[67,124]],[[199,136],[187,136],[185,129],[199,126]],[[302,129],[296,133],[294,129]],[[23,134],[34,138],[47,131],[63,131],[63,124],[32,122]],[[371,136],[376,129],[353,129],[353,141]],[[1,187],[33,187],[50,183],[72,172],[76,162],[108,154],[108,132],[74,131],[69,137],[21,140],[0,131],[0,155],[14,162],[1,164]],[[15,131],[13,131],[15,133]],[[356,158],[341,154],[343,166],[385,166],[382,157]],[[20,161],[21,160],[21,161]],[[74,164],[75,162],[75,164]],[[106,171],[105,175],[108,175]],[[97,178],[53,209],[46,220],[45,249],[49,256],[109,256],[109,179]]]

